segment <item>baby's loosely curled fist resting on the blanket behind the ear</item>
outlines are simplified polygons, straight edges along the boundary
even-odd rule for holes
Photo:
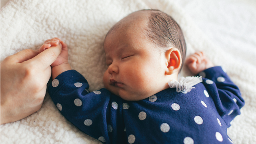
[[[185,64],[193,74],[198,74],[199,72],[214,66],[212,62],[206,58],[204,52],[195,52],[191,56],[188,56]]]

